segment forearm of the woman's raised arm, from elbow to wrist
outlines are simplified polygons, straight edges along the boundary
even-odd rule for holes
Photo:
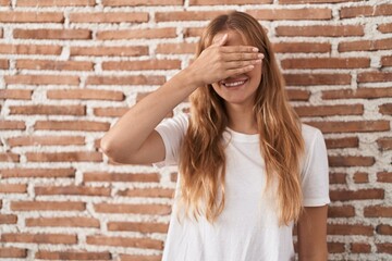
[[[154,128],[197,88],[181,71],[163,86],[132,107],[102,137],[101,148],[111,158],[136,152]]]

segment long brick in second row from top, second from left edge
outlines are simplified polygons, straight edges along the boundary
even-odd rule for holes
[[[71,23],[144,23],[148,22],[146,12],[94,12],[70,13]]]

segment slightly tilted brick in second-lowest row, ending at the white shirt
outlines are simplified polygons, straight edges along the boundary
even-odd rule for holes
[[[108,236],[87,236],[88,245],[147,248],[161,250],[163,243],[151,238],[130,238],[130,237],[108,237]]]

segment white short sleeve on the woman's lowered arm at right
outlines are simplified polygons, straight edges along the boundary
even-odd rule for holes
[[[317,128],[313,129],[315,132],[306,149],[306,161],[302,172],[304,207],[330,203],[327,146],[322,133]]]

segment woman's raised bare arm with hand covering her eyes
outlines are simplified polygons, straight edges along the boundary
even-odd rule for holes
[[[261,59],[253,47],[224,47],[228,37],[210,46],[187,69],[132,107],[103,136],[101,149],[113,161],[147,164],[164,159],[155,127],[199,86],[253,70]]]

